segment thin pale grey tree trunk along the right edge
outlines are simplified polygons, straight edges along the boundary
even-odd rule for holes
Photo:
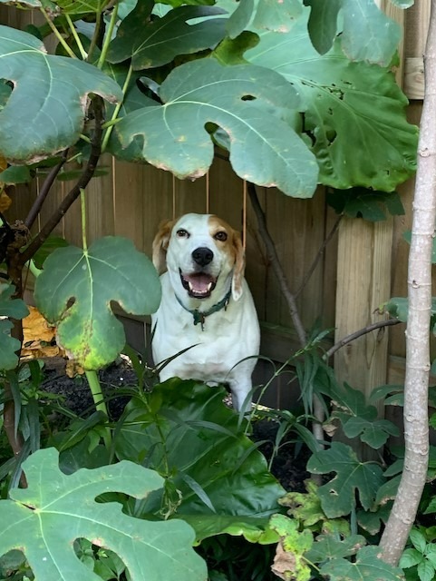
[[[418,145],[409,255],[409,316],[404,386],[405,457],[402,480],[380,542],[384,561],[396,565],[416,517],[429,456],[431,249],[436,217],[436,0],[424,56],[425,94]]]

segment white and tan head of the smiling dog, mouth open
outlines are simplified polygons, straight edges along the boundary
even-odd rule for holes
[[[217,289],[228,288],[242,295],[244,249],[240,235],[212,214],[185,214],[160,224],[153,241],[153,264],[161,273],[169,271],[178,296],[187,292],[193,299],[208,299]]]

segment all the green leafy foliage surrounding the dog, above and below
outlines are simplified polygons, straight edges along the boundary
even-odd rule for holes
[[[88,182],[102,171],[102,153],[196,178],[208,172],[214,148],[221,147],[244,180],[304,198],[322,182],[349,194],[339,212],[373,221],[384,206],[401,212],[392,191],[414,171],[417,130],[406,121],[407,100],[391,71],[398,27],[371,0],[9,4],[36,7],[46,22],[27,32],[0,26],[0,151],[9,162],[0,178],[25,182],[37,172],[46,180],[44,195],[23,217],[23,232],[0,214],[7,280],[0,287],[0,316],[15,320],[14,326],[0,320],[1,369],[16,368],[23,269],[35,258],[43,269],[38,273],[31,262],[39,274],[35,299],[56,323],[59,342],[88,371],[115,359],[125,342],[111,301],[136,314],[159,304],[157,274],[129,241],[106,238],[87,247],[83,200]],[[367,13],[363,23],[352,17],[356,8]],[[44,46],[49,35],[58,43],[54,54]],[[368,42],[379,36],[383,42]],[[359,143],[364,155],[350,143]],[[82,171],[70,173],[70,162],[79,162]],[[74,177],[73,188],[38,231],[35,216],[51,180],[62,174]],[[370,191],[363,195],[353,187]],[[41,258],[37,252],[79,195],[83,249],[64,247]],[[340,421],[346,436],[380,448],[394,428],[376,419],[373,406],[352,388],[337,386],[314,354],[317,347],[293,358],[305,358],[299,366],[305,401],[316,392],[333,401],[330,426]],[[309,468],[335,476],[309,489],[307,501],[287,497],[291,518],[274,514],[268,526],[284,491],[247,438],[246,420],[223,407],[222,390],[174,379],[149,394],[140,380],[116,425],[103,402],[85,419],[70,416],[63,432],[46,421],[44,433],[44,402],[39,407],[38,389],[20,381],[18,371],[4,381],[5,425],[7,419],[10,441],[23,438],[24,444],[3,467],[3,476],[12,470],[15,476],[8,482],[10,498],[0,501],[7,523],[0,547],[23,549],[36,577],[122,578],[126,566],[132,579],[152,576],[153,567],[166,579],[204,578],[186,520],[197,542],[207,539],[209,547],[218,534],[259,546],[279,537],[276,570],[282,578],[399,578],[397,569],[378,560],[375,547],[363,547],[353,523],[359,509],[376,514],[386,473],[345,444],[319,450],[293,414],[277,414],[275,449],[292,430],[314,451]],[[92,389],[94,399],[102,399],[98,382]],[[47,441],[61,450],[65,473],[53,450],[37,451]],[[29,487],[18,489],[20,463],[31,451],[24,462]],[[336,517],[348,515],[354,526],[345,530],[344,519]],[[22,578],[28,573],[24,556],[6,555]],[[11,563],[5,566],[12,570]],[[211,578],[223,575],[220,568]]]

